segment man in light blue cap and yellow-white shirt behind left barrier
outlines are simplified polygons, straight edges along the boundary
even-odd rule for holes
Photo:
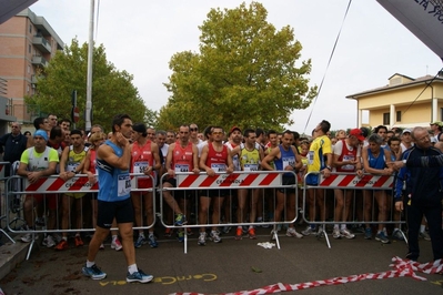
[[[28,179],[30,183],[37,182],[41,177],[47,177],[56,173],[57,163],[59,163],[59,154],[52,148],[47,146],[48,132],[38,130],[33,134],[33,146],[27,149],[20,157],[20,165],[17,174]],[[52,207],[51,202],[57,202],[54,197],[49,199],[49,207]],[[34,206],[43,201],[42,194],[27,194],[23,204],[23,215],[26,221],[26,230],[36,230],[33,215]],[[31,233],[21,237],[24,243],[31,242],[33,235]]]

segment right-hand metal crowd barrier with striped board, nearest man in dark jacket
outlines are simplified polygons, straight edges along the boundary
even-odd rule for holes
[[[306,179],[309,177],[310,174],[316,175],[318,176],[318,185],[308,185],[306,184]],[[356,173],[331,173],[329,177],[324,177],[323,174],[318,173],[318,172],[311,172],[308,173],[304,176],[304,185],[303,185],[303,206],[302,206],[302,220],[303,222],[308,224],[314,224],[322,226],[323,228],[323,234],[328,244],[328,247],[331,248],[331,243],[326,233],[326,225],[334,225],[334,224],[346,224],[346,225],[361,225],[361,224],[399,224],[400,225],[400,233],[402,234],[404,241],[407,243],[407,238],[403,231],[401,230],[401,225],[404,225],[406,222],[402,221],[400,217],[397,221],[394,220],[394,214],[395,214],[395,206],[393,204],[393,192],[394,192],[394,175],[373,175],[373,174],[363,174],[363,176],[356,175]],[[350,214],[348,215],[348,221],[334,221],[335,216],[335,194],[333,190],[352,190],[352,204],[351,204],[351,210],[352,212],[349,212]],[[316,192],[319,190],[324,190],[324,208],[326,212],[326,218],[325,220],[319,220],[318,217],[315,220],[309,220],[308,217],[308,199],[306,194],[309,190],[314,190],[314,200],[316,199]],[[365,192],[363,192],[365,191]],[[374,197],[374,192],[377,191],[386,191],[386,221],[376,221],[375,220],[375,212],[377,211],[376,204],[375,204],[375,197]],[[364,220],[364,210],[365,210],[365,204],[364,204],[364,197],[363,193],[371,193],[371,199],[372,199],[372,205],[371,205],[371,218],[370,221]],[[343,193],[344,194],[344,193]],[[345,194],[344,194],[345,195]],[[332,200],[333,202],[331,202]],[[314,201],[315,202],[315,201]],[[361,202],[361,204],[360,204]],[[316,202],[315,202],[316,203]],[[346,202],[344,201],[344,204]],[[331,208],[332,210],[328,210]],[[359,206],[362,205],[362,207]],[[316,205],[315,212],[318,211]],[[345,210],[345,205],[344,208]],[[360,215],[360,210],[362,210],[362,215]],[[331,213],[332,212],[332,221],[331,218]],[[358,214],[359,213],[359,214]],[[400,214],[400,213],[399,213]],[[319,214],[315,214],[318,216]],[[363,217],[363,218],[362,218]]]

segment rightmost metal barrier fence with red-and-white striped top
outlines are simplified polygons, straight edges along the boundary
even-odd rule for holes
[[[363,174],[362,176],[359,176],[355,173],[331,173],[329,177],[324,177],[323,174],[311,172],[305,175],[304,183],[306,183],[306,179],[312,175],[318,176],[318,185],[305,184],[303,186],[302,218],[309,224],[320,225],[322,227],[329,247],[331,247],[331,243],[325,226],[334,224],[366,224],[366,226],[371,224],[399,225],[400,233],[407,243],[406,236],[401,231],[401,225],[405,224],[405,221],[401,220],[400,213],[395,212],[393,206],[393,192],[395,185],[394,175]],[[329,217],[331,214],[328,214],[331,205],[330,201],[331,199],[334,201],[332,202],[332,207],[336,208],[336,194],[340,193],[336,192],[338,190],[344,192],[344,199],[348,197],[348,200],[344,200],[344,204],[352,204],[352,215],[349,214],[351,213],[350,207],[346,208],[346,206],[344,206],[343,210],[348,210],[344,215],[348,215],[349,217],[343,220],[341,216],[335,216],[334,212],[332,214],[333,220],[330,221]],[[349,193],[351,193],[351,196]],[[306,195],[309,195],[309,200],[306,199]],[[352,197],[352,200],[349,200],[349,197]],[[306,216],[308,203],[310,203],[310,216]],[[320,207],[318,206],[318,203],[320,203]],[[377,206],[375,206],[375,203],[377,203]],[[318,211],[320,211],[321,220],[316,218],[318,214],[315,213]],[[391,212],[391,214],[389,214],[390,216],[387,216],[387,212]],[[375,218],[375,213],[377,213],[379,220]],[[380,220],[381,216],[386,217]]]

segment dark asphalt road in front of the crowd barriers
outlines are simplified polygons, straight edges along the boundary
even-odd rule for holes
[[[40,246],[29,261],[0,282],[0,287],[8,295],[235,293],[278,283],[310,283],[352,275],[363,278],[369,273],[393,271],[391,260],[406,253],[404,242],[382,245],[375,240],[364,240],[362,234],[352,241],[331,237],[332,248],[328,248],[324,238],[308,236],[298,240],[282,233],[281,250],[265,250],[256,244],[269,242],[268,233],[269,228],[259,228],[259,240],[235,241],[231,232],[223,236],[221,244],[208,241],[207,246],[198,246],[193,235],[188,241],[188,254],[183,253],[182,243],[173,237],[161,237],[158,248],[144,245],[137,250],[138,266],[155,277],[149,284],[127,283],[123,253],[111,250],[109,244],[97,258],[97,264],[108,273],[102,281],[92,281],[81,274],[87,246],[72,246],[64,252]],[[72,241],[70,243],[72,245]],[[430,262],[431,243],[421,241],[421,247],[420,262]],[[427,281],[412,277],[359,279],[303,289],[298,294],[443,294],[441,275],[416,274]]]

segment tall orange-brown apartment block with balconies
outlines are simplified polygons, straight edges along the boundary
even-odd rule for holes
[[[24,95],[36,92],[36,73],[64,47],[43,17],[24,9],[0,24],[0,81],[9,100],[9,112],[22,123],[31,123],[39,113],[29,112]]]

